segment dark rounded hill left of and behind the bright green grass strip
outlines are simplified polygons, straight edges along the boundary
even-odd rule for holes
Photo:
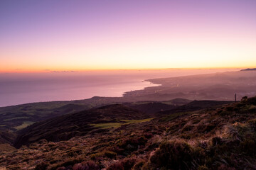
[[[89,132],[97,131],[99,128],[92,124],[120,123],[124,119],[138,120],[146,117],[140,111],[119,104],[102,106],[30,125],[18,132],[19,137],[14,146],[21,147],[22,145],[28,145],[43,139],[53,142],[69,140],[71,137],[82,136]]]

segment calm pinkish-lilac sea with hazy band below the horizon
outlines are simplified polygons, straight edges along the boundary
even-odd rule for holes
[[[164,69],[0,74],[0,106],[39,101],[70,101],[92,96],[122,96],[144,89],[145,79],[235,71],[237,69]]]

